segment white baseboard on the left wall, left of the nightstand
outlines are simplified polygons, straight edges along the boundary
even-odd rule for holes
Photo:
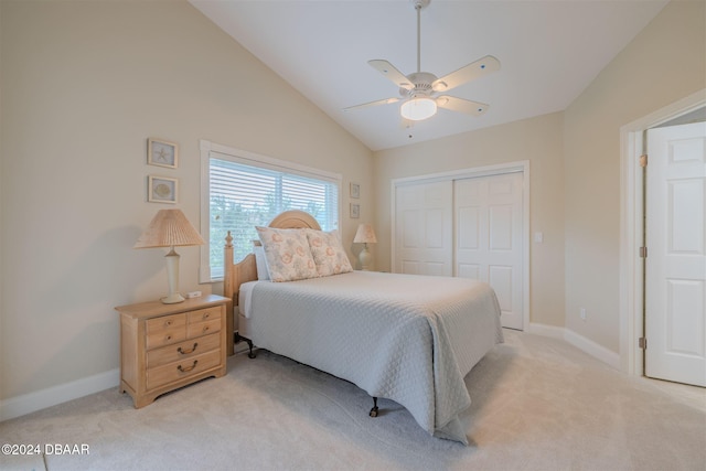
[[[0,400],[0,421],[45,409],[120,384],[120,368]]]

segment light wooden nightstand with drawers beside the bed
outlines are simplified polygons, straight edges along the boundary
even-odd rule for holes
[[[226,373],[227,298],[115,308],[120,313],[120,392],[136,408],[158,396]]]

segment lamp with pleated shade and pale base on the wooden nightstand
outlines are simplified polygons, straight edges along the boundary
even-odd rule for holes
[[[184,300],[184,297],[179,293],[179,254],[174,251],[174,247],[203,244],[205,242],[181,210],[160,210],[132,246],[132,248],[171,247],[169,254],[164,256],[169,282],[169,296],[162,298],[164,304],[174,304]]]

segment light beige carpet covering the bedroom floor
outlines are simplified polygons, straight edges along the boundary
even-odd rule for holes
[[[706,392],[685,400],[561,340],[505,331],[466,378],[470,446],[428,436],[399,405],[259,351],[228,374],[135,409],[117,388],[0,424],[3,443],[88,454],[0,456],[53,470],[699,470]]]

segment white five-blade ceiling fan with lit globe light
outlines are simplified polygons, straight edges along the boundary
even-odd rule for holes
[[[421,10],[426,8],[431,0],[410,1],[417,11],[417,72],[405,75],[385,60],[377,58],[368,61],[367,63],[373,66],[373,68],[385,75],[399,87],[400,97],[378,99],[376,101],[350,106],[343,110],[350,111],[352,109],[387,105],[402,100],[403,104],[399,113],[403,118],[411,121],[420,121],[432,117],[437,113],[437,107],[473,116],[484,114],[490,105],[443,95],[443,93],[467,82],[499,71],[500,61],[492,55],[486,55],[441,78],[437,78],[436,75],[429,72],[421,72]]]

